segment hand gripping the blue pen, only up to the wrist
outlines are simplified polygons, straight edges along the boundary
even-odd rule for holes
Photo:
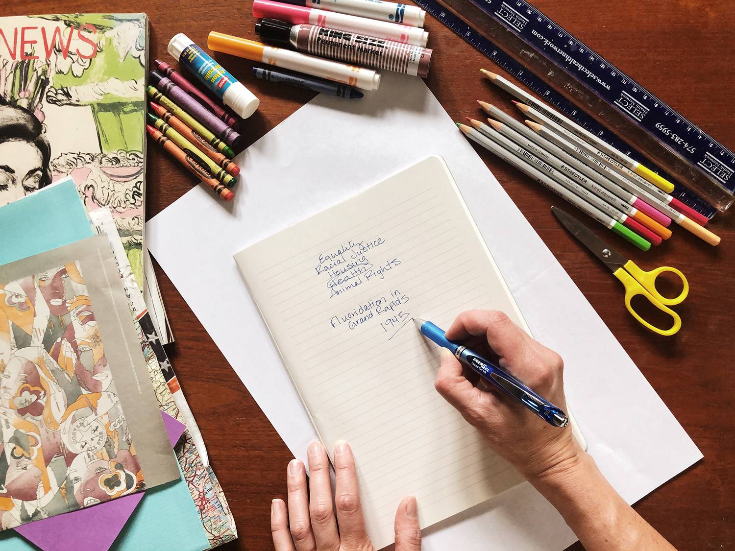
[[[470,310],[457,316],[446,332],[493,361],[542,397],[567,411],[562,358],[531,339],[501,311]],[[466,375],[466,376],[465,376]],[[476,384],[473,384],[473,381]],[[526,478],[572,467],[581,447],[569,426],[556,428],[465,368],[442,348],[437,391],[473,425],[495,452]]]

